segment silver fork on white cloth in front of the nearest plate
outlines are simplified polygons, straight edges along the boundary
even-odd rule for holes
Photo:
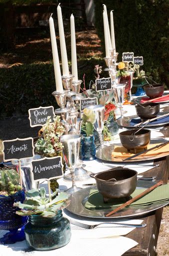
[[[127,224],[127,223],[119,223],[119,222],[102,222],[102,223],[95,224],[95,225],[88,225],[88,224],[84,224],[84,223],[81,223],[81,222],[78,222],[78,221],[75,221],[72,219],[69,219],[69,221],[71,224],[74,224],[76,226],[80,226],[80,227],[83,227],[86,229],[94,229],[97,226],[102,225],[102,224],[117,224],[120,226],[127,226],[127,227],[145,227],[145,226],[147,226],[146,223],[144,223],[144,224]]]

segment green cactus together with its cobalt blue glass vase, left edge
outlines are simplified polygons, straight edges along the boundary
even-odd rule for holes
[[[0,243],[14,243],[24,240],[24,224],[27,217],[15,214],[17,207],[13,207],[16,201],[23,201],[24,190],[19,185],[19,174],[15,169],[0,169],[0,229],[9,230],[0,238]],[[18,229],[21,227],[21,230]]]

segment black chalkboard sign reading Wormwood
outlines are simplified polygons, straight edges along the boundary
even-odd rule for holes
[[[50,180],[63,176],[63,164],[61,156],[44,157],[31,161],[31,171],[34,180]]]

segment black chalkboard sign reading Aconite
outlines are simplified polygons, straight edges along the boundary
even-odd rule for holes
[[[3,160],[19,160],[34,156],[33,138],[3,140]]]

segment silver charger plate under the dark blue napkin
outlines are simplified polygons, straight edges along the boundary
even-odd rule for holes
[[[167,114],[167,112],[163,112],[163,113],[161,112],[161,113],[158,114],[158,116],[163,115],[163,114]],[[136,126],[130,124],[131,120],[135,119],[135,118],[139,118],[139,116],[138,115],[124,116],[123,118],[117,119],[117,123],[118,123],[118,125],[123,126],[123,127],[137,128]],[[141,120],[140,120],[140,122],[141,122]],[[153,123],[147,123],[145,125],[145,127],[161,126],[161,125],[168,124],[168,123],[169,123],[169,121],[154,123],[154,124]],[[144,123],[141,124],[141,126],[143,126],[143,125],[144,125]]]

